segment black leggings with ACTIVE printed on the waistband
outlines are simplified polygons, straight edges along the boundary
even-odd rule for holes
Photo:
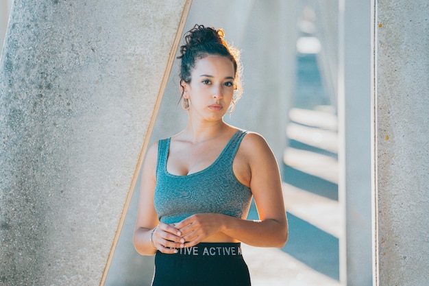
[[[240,243],[199,243],[177,254],[156,252],[152,286],[249,286]]]

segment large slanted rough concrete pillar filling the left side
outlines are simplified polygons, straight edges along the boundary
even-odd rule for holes
[[[15,1],[0,62],[1,283],[103,284],[188,4]]]

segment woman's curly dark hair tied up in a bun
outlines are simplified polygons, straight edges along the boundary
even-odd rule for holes
[[[195,68],[197,60],[205,58],[209,55],[224,56],[231,60],[234,64],[235,73],[235,92],[234,104],[241,97],[241,62],[240,51],[231,47],[223,40],[223,30],[212,27],[204,27],[204,25],[195,25],[192,29],[186,32],[184,36],[184,45],[180,46],[180,81],[186,83],[191,82],[191,72]],[[182,93],[183,96],[183,93]],[[180,97],[182,99],[182,97]]]

